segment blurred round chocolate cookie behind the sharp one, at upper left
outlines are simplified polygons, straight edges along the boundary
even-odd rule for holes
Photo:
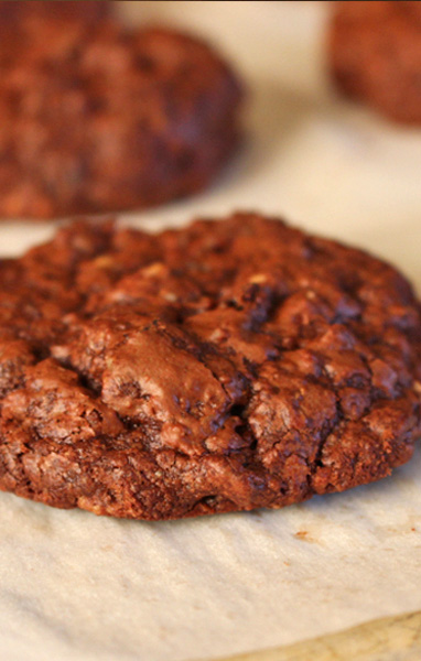
[[[241,94],[207,45],[127,30],[106,2],[2,4],[23,8],[0,6],[0,216],[154,205],[231,154]]]

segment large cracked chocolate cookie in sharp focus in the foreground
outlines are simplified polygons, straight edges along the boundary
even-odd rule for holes
[[[172,519],[411,457],[418,303],[365,252],[252,214],[158,236],[79,223],[0,282],[1,489]]]

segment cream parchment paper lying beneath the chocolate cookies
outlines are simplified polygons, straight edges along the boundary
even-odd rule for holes
[[[328,3],[327,3],[328,4]],[[208,36],[250,94],[248,141],[213,188],[123,221],[255,208],[368,248],[421,285],[421,129],[339,100],[326,6],[121,2]],[[1,253],[51,225],[6,224]],[[142,523],[0,495],[2,661],[184,661],[421,608],[421,453],[391,478],[281,511]]]

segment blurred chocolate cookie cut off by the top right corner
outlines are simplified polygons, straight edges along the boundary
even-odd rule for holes
[[[330,61],[339,88],[392,119],[420,123],[420,2],[332,4]]]

